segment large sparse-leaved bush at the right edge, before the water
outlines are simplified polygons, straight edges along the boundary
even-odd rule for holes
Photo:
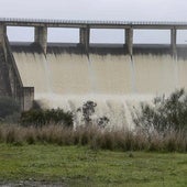
[[[168,98],[156,97],[153,106],[142,103],[141,110],[136,110],[135,114],[133,117],[135,124],[147,132],[187,129],[187,94],[180,89]]]

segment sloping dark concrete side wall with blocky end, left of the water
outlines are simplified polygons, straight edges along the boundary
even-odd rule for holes
[[[0,24],[0,96],[13,98],[22,110],[33,107],[34,88],[23,87],[4,24]]]

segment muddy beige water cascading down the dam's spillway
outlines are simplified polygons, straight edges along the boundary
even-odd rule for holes
[[[24,86],[34,86],[45,107],[76,111],[97,102],[96,116],[114,125],[132,125],[140,101],[187,88],[187,61],[169,55],[97,55],[13,52]],[[97,118],[96,117],[96,118]]]

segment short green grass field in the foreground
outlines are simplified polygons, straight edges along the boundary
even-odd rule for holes
[[[0,144],[0,184],[20,182],[59,186],[186,187],[187,154]]]

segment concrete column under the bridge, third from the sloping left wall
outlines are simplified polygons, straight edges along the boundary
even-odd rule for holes
[[[128,47],[128,53],[132,55],[133,53],[133,29],[125,29],[125,45]]]

